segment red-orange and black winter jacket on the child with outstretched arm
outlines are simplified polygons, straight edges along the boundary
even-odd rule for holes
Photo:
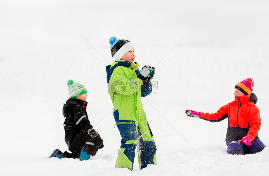
[[[252,93],[253,94],[253,93]],[[256,95],[254,94],[255,98]],[[235,97],[235,101],[221,107],[217,113],[200,112],[200,118],[211,122],[219,122],[228,118],[226,143],[241,140],[249,136],[251,141],[257,139],[261,127],[260,110],[254,102],[250,102],[251,95]]]

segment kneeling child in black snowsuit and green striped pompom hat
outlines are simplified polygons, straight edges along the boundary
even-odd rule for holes
[[[63,126],[65,131],[65,142],[72,153],[62,153],[55,149],[50,155],[58,158],[79,158],[88,160],[90,155],[94,156],[99,148],[103,148],[103,140],[99,133],[93,129],[86,112],[87,90],[80,83],[67,82],[69,98],[63,105],[63,116],[66,118]]]

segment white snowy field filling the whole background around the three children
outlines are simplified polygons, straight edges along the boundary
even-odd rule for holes
[[[227,121],[216,112],[234,86],[255,81],[259,137],[269,147],[269,3],[267,1],[1,1],[1,175],[268,175],[269,150],[226,153]],[[108,39],[132,41],[140,66],[155,67],[142,98],[157,146],[157,166],[114,168],[120,135],[107,92]],[[183,40],[182,40],[183,39]],[[142,68],[142,67],[141,67]],[[49,158],[64,142],[67,81],[88,89],[88,115],[104,139],[89,161]]]

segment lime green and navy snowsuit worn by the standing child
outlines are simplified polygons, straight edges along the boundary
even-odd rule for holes
[[[139,64],[132,68],[131,61],[115,61],[107,66],[108,92],[113,103],[113,115],[121,135],[121,146],[115,167],[133,169],[134,150],[137,146],[140,169],[156,163],[156,145],[141,103],[152,91],[151,83],[144,84]]]

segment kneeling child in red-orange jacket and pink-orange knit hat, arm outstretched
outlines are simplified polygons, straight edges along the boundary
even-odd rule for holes
[[[252,90],[254,81],[247,78],[235,86],[235,101],[221,107],[216,113],[186,110],[187,116],[219,122],[228,118],[226,133],[229,154],[258,153],[265,145],[258,137],[261,127],[260,110],[256,107],[257,97]]]

